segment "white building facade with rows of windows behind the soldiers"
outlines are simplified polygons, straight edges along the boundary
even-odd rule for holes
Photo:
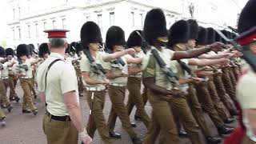
[[[82,24],[87,21],[98,23],[103,41],[110,26],[122,27],[127,39],[131,31],[142,30],[147,11],[156,7],[164,10],[168,29],[179,19],[191,18],[191,7],[194,7],[193,18],[202,26],[218,29],[235,27],[240,10],[232,0],[227,1],[10,0],[10,11],[6,13],[10,14],[6,45],[16,49],[18,44],[33,43],[37,47],[47,42],[43,30],[49,29],[70,30],[67,41],[79,41]],[[226,6],[229,6],[229,10],[224,10]]]

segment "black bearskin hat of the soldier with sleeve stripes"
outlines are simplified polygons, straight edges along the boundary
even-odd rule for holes
[[[153,9],[146,14],[143,32],[146,42],[151,46],[157,38],[167,37],[166,17],[161,9]]]

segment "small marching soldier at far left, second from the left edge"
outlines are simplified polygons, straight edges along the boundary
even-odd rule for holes
[[[6,49],[6,56],[10,59],[8,59],[8,62],[15,62],[14,66],[8,67],[8,73],[9,73],[9,86],[10,86],[10,95],[9,99],[10,101],[16,101],[18,102],[20,98],[18,98],[18,95],[15,91],[15,87],[18,81],[18,77],[15,74],[15,68],[16,64],[18,63],[16,60],[14,60],[14,50],[12,48]]]

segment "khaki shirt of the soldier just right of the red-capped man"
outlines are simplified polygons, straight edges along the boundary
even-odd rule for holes
[[[102,55],[101,54],[96,54],[96,58],[94,58],[94,61],[98,64],[102,65]],[[82,72],[89,72],[89,76],[91,79],[96,80],[96,81],[101,81],[103,78],[101,77],[100,74],[95,74],[90,66],[90,61],[86,56],[82,56],[81,62],[80,62],[80,69]],[[84,78],[83,78],[84,80]],[[86,84],[86,82],[84,82]],[[86,84],[86,87],[95,87],[99,88],[101,90],[105,90],[105,86],[98,84],[98,85],[88,85]]]

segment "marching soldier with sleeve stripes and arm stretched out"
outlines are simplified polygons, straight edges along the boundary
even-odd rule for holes
[[[175,78],[174,74],[171,74],[170,61],[172,59],[193,58],[209,50],[218,50],[222,47],[222,44],[215,43],[210,47],[198,50],[174,52],[164,47],[167,42],[168,32],[166,30],[166,18],[162,10],[150,10],[146,14],[144,23],[143,32],[146,42],[150,45],[150,50],[147,52],[146,57],[143,58],[142,82],[148,89],[150,104],[153,108],[153,125],[150,126],[150,130],[147,132],[143,143],[154,143],[160,130],[163,142],[179,143],[178,132],[171,110],[171,108],[174,108],[174,105],[171,102],[175,101],[175,98],[184,97],[184,92],[176,90],[177,81],[175,79],[177,78]],[[167,70],[168,73],[166,72]],[[175,110],[178,110],[178,108]],[[194,138],[196,138],[196,135],[194,134]],[[199,139],[194,139],[194,142],[201,143]]]

